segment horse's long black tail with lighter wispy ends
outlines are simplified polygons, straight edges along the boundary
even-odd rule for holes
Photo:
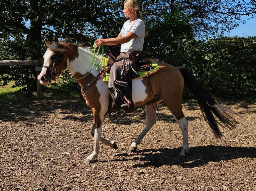
[[[221,104],[215,96],[206,90],[203,85],[198,82],[196,78],[184,67],[177,68],[184,78],[185,86],[198,101],[204,119],[212,128],[214,135],[216,137],[222,136],[218,124],[229,130],[235,128],[237,121],[231,114],[240,114]]]

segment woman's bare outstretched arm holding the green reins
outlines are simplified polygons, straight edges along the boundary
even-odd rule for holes
[[[116,38],[109,38],[109,39],[97,39],[95,44],[96,46],[101,46],[101,45],[107,45],[107,46],[112,46],[112,45],[117,45],[117,44],[124,44],[135,38],[136,35],[133,32],[128,32],[128,34],[124,37],[122,37],[121,32]]]

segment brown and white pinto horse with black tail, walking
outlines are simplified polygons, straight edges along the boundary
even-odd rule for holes
[[[103,82],[99,77],[102,65],[96,64],[101,62],[102,57],[95,56],[92,51],[82,48],[79,44],[59,41],[57,37],[53,39],[51,42],[44,39],[47,49],[43,56],[42,70],[37,79],[41,85],[50,84],[67,68],[82,87],[81,93],[93,113],[91,134],[94,137],[93,152],[84,162],[92,163],[98,158],[100,141],[117,149],[115,141],[102,137],[103,121],[108,114],[110,99],[108,83]],[[222,136],[219,126],[228,130],[236,127],[238,122],[233,114],[239,114],[219,102],[187,69],[164,62],[157,62],[157,64],[160,69],[150,75],[150,86],[148,76],[132,80],[133,101],[136,107],[145,105],[146,126],[130,145],[131,151],[137,149],[143,137],[156,123],[156,106],[164,101],[182,131],[183,145],[177,157],[186,156],[189,146],[188,121],[182,111],[184,85],[196,98],[205,121],[217,138]],[[152,97],[158,97],[158,99],[152,103]]]

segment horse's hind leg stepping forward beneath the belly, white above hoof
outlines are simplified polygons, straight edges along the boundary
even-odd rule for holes
[[[160,101],[159,101],[160,102]],[[156,102],[156,105],[159,104],[159,102]],[[141,143],[141,140],[143,137],[147,134],[149,129],[156,123],[155,113],[156,113],[156,106],[155,104],[145,105],[145,113],[147,117],[146,126],[143,129],[143,131],[139,134],[139,136],[136,138],[136,140],[131,144],[130,150],[136,150],[138,144]]]

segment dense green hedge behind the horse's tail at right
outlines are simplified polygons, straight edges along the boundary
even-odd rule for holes
[[[191,51],[190,51],[191,52]],[[194,45],[185,67],[214,95],[256,98],[256,37],[222,37]]]

